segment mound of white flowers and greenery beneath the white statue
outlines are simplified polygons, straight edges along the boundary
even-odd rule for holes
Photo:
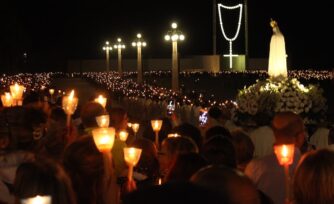
[[[305,122],[315,122],[323,118],[327,109],[323,90],[318,85],[304,86],[296,78],[257,80],[239,91],[236,102],[236,120],[291,111],[301,115]]]

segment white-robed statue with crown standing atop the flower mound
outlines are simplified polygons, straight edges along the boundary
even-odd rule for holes
[[[279,30],[277,24],[273,26],[273,35],[270,40],[269,50],[269,67],[268,74],[270,77],[288,76],[286,65],[286,52],[284,36]]]

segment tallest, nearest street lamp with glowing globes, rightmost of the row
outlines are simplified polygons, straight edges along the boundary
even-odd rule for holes
[[[172,23],[172,30],[168,31],[165,35],[166,41],[172,41],[173,54],[172,54],[172,89],[173,91],[179,90],[179,63],[177,54],[177,42],[184,40],[184,35],[181,31],[177,30],[177,24]]]

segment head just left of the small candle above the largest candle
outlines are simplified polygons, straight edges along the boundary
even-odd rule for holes
[[[80,117],[85,128],[94,128],[98,127],[96,117],[105,114],[106,110],[101,104],[90,101],[82,107]]]

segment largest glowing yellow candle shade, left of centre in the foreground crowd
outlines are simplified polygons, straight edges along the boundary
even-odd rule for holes
[[[95,145],[100,152],[111,151],[115,140],[115,128],[96,128],[92,134]]]

